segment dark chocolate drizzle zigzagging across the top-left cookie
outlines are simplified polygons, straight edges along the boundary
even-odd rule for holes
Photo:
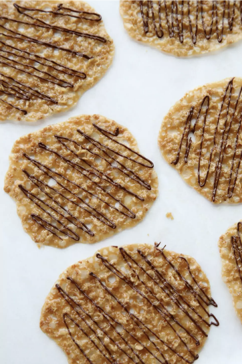
[[[28,22],[28,21],[17,20],[17,19],[5,17],[5,16],[0,16],[0,21],[7,20],[8,23],[13,22],[13,23],[17,23],[17,24],[29,25],[30,27],[53,29],[53,30],[73,34],[74,36],[78,36],[78,37],[79,36],[88,37],[88,38],[91,38],[91,39],[94,39],[97,41],[101,41],[102,43],[106,43],[106,41],[107,41],[105,38],[97,36],[97,35],[83,33],[83,32],[79,32],[79,31],[72,31],[67,28],[59,27],[58,25],[50,25],[48,23],[45,23],[43,20],[41,20],[39,18],[35,18],[34,16],[32,16],[30,14],[31,12],[49,13],[49,14],[53,15],[53,20],[56,20],[55,18],[67,16],[67,17],[76,18],[79,21],[87,20],[87,21],[95,22],[95,21],[101,21],[101,19],[102,19],[101,15],[99,15],[97,13],[79,11],[79,10],[76,10],[73,8],[63,7],[63,4],[59,4],[56,11],[44,11],[44,10],[36,9],[36,8],[26,8],[26,7],[21,7],[18,4],[13,4],[13,5],[14,5],[16,11],[18,11],[21,15],[34,20],[34,23]],[[62,12],[64,9],[66,10],[66,12]],[[76,15],[74,15],[74,13]],[[90,17],[88,17],[88,16],[90,16]],[[37,23],[36,23],[36,21],[37,21]],[[17,39],[21,43],[28,42],[28,43],[42,44],[45,47],[50,47],[50,48],[54,48],[54,49],[57,49],[60,51],[69,52],[75,56],[83,57],[87,60],[90,60],[93,58],[93,56],[88,56],[86,54],[83,54],[82,52],[70,50],[68,48],[57,46],[56,44],[34,39],[33,37],[27,36],[24,33],[14,31],[13,29],[11,29],[10,25],[9,25],[9,27],[6,27],[4,24],[0,24],[0,27],[5,29],[5,31],[7,31],[7,33],[0,32],[0,35],[4,36],[6,39],[8,39],[8,38]],[[10,48],[11,50],[9,50],[8,48]],[[25,54],[26,56],[24,56],[23,54]],[[40,70],[40,69],[34,67],[29,62],[36,62],[46,68],[51,68],[52,71],[54,72],[54,74],[47,72],[45,70]],[[18,64],[20,67],[14,65],[13,63]],[[22,50],[21,48],[18,48],[18,47],[11,46],[10,44],[7,44],[2,40],[0,40],[0,64],[2,64],[3,66],[14,68],[17,71],[24,72],[25,74],[28,74],[34,78],[37,78],[38,80],[41,81],[41,83],[50,82],[52,84],[55,84],[55,85],[57,85],[59,87],[63,87],[63,88],[73,88],[75,86],[75,83],[69,82],[69,80],[62,79],[59,76],[61,74],[71,76],[74,79],[75,78],[86,79],[86,77],[87,77],[85,72],[74,70],[73,68],[67,67],[67,66],[65,66],[61,63],[58,63],[54,60],[51,60],[49,58],[34,54],[34,53],[26,51],[26,50]],[[32,70],[31,72],[28,71],[29,68]],[[11,85],[11,87],[14,87],[15,89],[16,88],[19,89],[19,91],[15,91],[16,93],[10,95],[6,84],[1,83],[2,87],[1,87],[0,91],[3,94],[14,96],[16,99],[21,99],[21,97],[19,97],[19,95],[24,94],[23,100],[32,101],[35,98],[39,98],[42,100],[46,100],[48,102],[52,102],[54,104],[58,104],[58,102],[56,100],[54,100],[53,98],[51,98],[50,96],[45,95],[45,94],[41,93],[40,91],[38,91],[26,84],[23,84],[14,78],[11,78],[4,74],[1,74],[1,75],[3,75],[7,79],[11,79],[14,82]],[[20,84],[22,87],[20,88],[19,86],[16,86],[16,83]],[[26,88],[28,90],[26,90]],[[32,90],[33,92],[31,92],[29,90]],[[7,103],[9,106],[15,108],[16,110],[23,112],[24,115],[27,114],[26,110],[24,110],[20,107],[17,107],[2,98],[0,98],[0,101],[3,101],[4,103]]]

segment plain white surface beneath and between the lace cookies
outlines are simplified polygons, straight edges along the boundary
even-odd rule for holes
[[[196,258],[208,275],[212,296],[218,302],[219,307],[213,312],[220,327],[211,328],[198,363],[240,363],[242,325],[222,282],[217,242],[229,226],[242,218],[241,205],[213,205],[186,185],[161,157],[157,137],[164,115],[186,91],[226,77],[242,76],[242,43],[217,54],[177,59],[130,39],[119,15],[119,1],[89,3],[103,16],[116,46],[114,62],[106,76],[65,114],[38,123],[0,125],[0,363],[67,364],[61,349],[39,328],[41,307],[59,274],[101,247],[155,241]],[[94,113],[116,120],[134,134],[141,153],[155,163],[160,196],[134,229],[95,245],[38,249],[22,229],[15,202],[3,191],[12,145],[21,135],[48,124]],[[170,211],[174,221],[165,217]]]

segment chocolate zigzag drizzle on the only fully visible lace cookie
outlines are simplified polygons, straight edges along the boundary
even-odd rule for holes
[[[60,189],[64,190],[64,192],[68,193],[68,195],[71,195],[70,197],[66,196],[65,194],[63,194],[59,190],[57,190],[56,188],[49,186],[47,183],[41,181],[40,178],[37,178],[34,175],[31,175],[30,173],[28,173],[28,171],[26,171],[24,169],[22,170],[22,172],[26,175],[26,177],[30,180],[30,182],[32,182],[33,185],[35,185],[37,187],[37,189],[42,194],[45,195],[45,197],[47,198],[48,201],[50,201],[50,203],[44,201],[40,197],[37,197],[33,192],[28,191],[21,184],[19,185],[19,189],[22,191],[22,193],[24,193],[24,195],[26,197],[28,197],[30,199],[30,201],[32,201],[36,206],[38,206],[45,214],[48,214],[50,218],[54,219],[56,223],[60,224],[61,227],[59,228],[59,227],[55,226],[56,223],[55,223],[55,225],[53,225],[52,223],[49,223],[48,221],[46,221],[46,219],[44,219],[43,217],[38,216],[36,214],[31,214],[30,215],[31,218],[36,223],[38,223],[38,225],[40,225],[44,229],[48,230],[50,233],[57,236],[60,240],[63,240],[63,239],[61,238],[61,236],[59,236],[55,232],[55,230],[57,230],[57,232],[63,233],[64,235],[66,235],[67,237],[69,237],[75,241],[79,241],[79,239],[80,239],[79,235],[77,233],[75,233],[73,229],[71,229],[65,223],[63,223],[63,221],[61,221],[60,218],[62,220],[65,219],[66,221],[73,224],[78,229],[83,230],[83,232],[89,234],[90,236],[94,236],[94,233],[85,225],[85,223],[80,221],[69,210],[67,210],[65,206],[62,206],[62,204],[60,202],[58,202],[58,199],[54,198],[52,196],[52,194],[58,195],[59,198],[62,198],[64,200],[66,200],[67,202],[72,203],[76,208],[80,208],[83,211],[86,211],[88,214],[90,214],[94,218],[94,220],[98,219],[101,223],[103,223],[104,225],[107,225],[111,229],[116,229],[116,225],[114,222],[112,222],[110,219],[108,219],[104,213],[102,213],[95,207],[91,206],[83,198],[79,197],[78,194],[74,193],[71,190],[71,187],[68,188],[66,186],[66,183],[68,185],[71,185],[75,189],[78,188],[79,190],[83,191],[84,193],[87,193],[89,196],[98,199],[99,201],[104,203],[110,209],[118,211],[120,214],[122,214],[128,218],[132,218],[132,219],[135,219],[136,215],[126,205],[124,205],[124,203],[122,203],[122,201],[120,199],[116,198],[114,195],[112,195],[110,192],[108,192],[102,185],[100,185],[100,182],[96,182],[96,179],[98,178],[100,181],[104,181],[104,182],[108,183],[108,185],[117,187],[119,190],[123,190],[125,193],[130,194],[131,196],[139,199],[140,201],[144,201],[143,197],[140,197],[139,195],[128,190],[126,187],[120,185],[120,183],[116,183],[107,173],[103,173],[101,170],[94,167],[88,161],[88,159],[83,159],[83,158],[79,157],[78,154],[66,144],[67,142],[73,143],[74,145],[78,146],[82,150],[88,151],[91,155],[95,155],[101,159],[104,159],[104,161],[106,161],[112,167],[112,170],[118,169],[121,173],[125,174],[129,179],[136,181],[140,185],[144,186],[147,190],[151,190],[151,186],[148,183],[146,183],[142,178],[140,178],[132,169],[126,168],[123,163],[119,162],[118,159],[115,159],[109,153],[112,153],[113,155],[116,154],[119,157],[122,157],[124,160],[128,159],[138,165],[147,166],[148,168],[152,168],[151,166],[153,166],[153,163],[151,161],[149,161],[149,159],[143,157],[141,154],[130,149],[128,146],[126,146],[122,143],[119,143],[118,141],[116,141],[113,138],[108,137],[108,135],[110,135],[110,134],[114,135],[112,132],[109,132],[103,128],[100,128],[96,124],[93,124],[93,126],[96,130],[98,130],[106,138],[111,139],[114,143],[123,146],[127,150],[131,151],[133,154],[137,155],[139,157],[139,160],[136,161],[134,158],[127,157],[126,155],[119,153],[119,152],[115,151],[114,149],[111,149],[107,145],[99,143],[96,139],[89,137],[87,134],[83,133],[79,129],[77,131],[79,132],[79,134],[81,134],[83,136],[84,139],[89,141],[90,140],[89,138],[91,138],[91,143],[93,144],[93,146],[97,147],[99,150],[101,150],[100,154],[95,153],[93,150],[90,150],[89,148],[86,148],[86,147],[84,148],[80,143],[78,143],[77,141],[75,141],[73,139],[62,137],[61,135],[55,135],[55,138],[64,148],[69,150],[74,155],[75,158],[78,158],[79,161],[85,163],[89,168],[85,168],[85,167],[79,165],[78,163],[74,162],[72,159],[66,158],[63,154],[58,153],[57,151],[55,151],[53,149],[50,149],[48,146],[46,146],[42,142],[38,143],[38,147],[47,151],[48,153],[56,155],[58,158],[60,158],[62,161],[64,161],[66,163],[66,166],[71,166],[84,179],[87,179],[88,181],[90,181],[90,183],[91,183],[92,187],[94,187],[94,189],[101,190],[104,197],[109,196],[112,200],[114,200],[116,203],[119,204],[119,207],[116,207],[116,204],[114,206],[111,203],[108,203],[105,199],[98,197],[97,194],[92,193],[88,189],[85,189],[80,184],[75,183],[74,181],[70,181],[70,179],[66,178],[63,174],[58,173],[58,171],[46,166],[43,163],[38,162],[34,158],[29,157],[26,153],[23,154],[24,158],[26,158],[39,171],[41,171],[43,173],[42,177],[47,176],[50,179],[53,179],[56,182],[56,185],[60,187]],[[115,130],[115,136],[118,136],[118,135],[119,135],[119,129],[117,128]],[[102,149],[99,148],[97,145],[98,146],[101,145]],[[109,160],[102,157],[101,153],[105,153],[106,156],[108,156]],[[119,163],[124,170],[119,167],[113,166],[112,163],[110,162],[110,159],[115,160],[117,163]],[[140,159],[148,161],[150,165],[146,165],[145,163],[141,162]],[[126,171],[128,171],[131,175],[128,174]],[[93,176],[94,176],[95,180],[93,180],[93,178],[92,178]],[[135,178],[134,178],[134,176],[135,176]],[[77,203],[77,201],[79,201],[79,203]],[[55,205],[55,207],[53,205]],[[48,210],[46,210],[46,208],[48,208]],[[57,208],[61,209],[61,212]],[[51,210],[52,212],[50,212],[49,210]],[[60,218],[57,218],[56,216],[60,216]]]

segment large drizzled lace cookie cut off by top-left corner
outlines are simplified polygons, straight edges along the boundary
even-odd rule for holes
[[[0,119],[66,111],[103,77],[114,45],[85,1],[0,1]]]

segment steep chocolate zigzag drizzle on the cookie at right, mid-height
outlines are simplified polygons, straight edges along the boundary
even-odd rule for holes
[[[222,135],[221,135],[219,157],[218,157],[218,160],[217,160],[217,163],[216,163],[216,170],[215,170],[215,173],[214,173],[214,184],[213,184],[213,193],[212,193],[212,201],[213,202],[216,199],[218,184],[220,182],[221,171],[222,171],[222,167],[223,167],[223,160],[224,160],[224,157],[225,157],[225,152],[226,152],[226,147],[227,147],[227,141],[229,139],[230,130],[231,130],[231,127],[232,127],[234,119],[235,119],[234,118],[235,117],[235,112],[238,109],[239,100],[241,98],[241,93],[242,93],[242,87],[241,87],[240,90],[239,90],[239,94],[238,94],[238,97],[237,97],[237,100],[236,100],[236,103],[235,103],[234,107],[231,106],[231,96],[232,96],[232,91],[233,91],[233,80],[234,80],[234,78],[232,78],[229,81],[229,83],[226,86],[225,93],[223,95],[220,111],[219,111],[219,114],[218,114],[217,124],[216,124],[216,128],[215,128],[214,135],[213,135],[213,147],[212,147],[212,149],[210,151],[210,156],[209,156],[209,161],[208,161],[208,169],[207,169],[206,175],[204,177],[204,182],[201,182],[200,164],[201,164],[201,158],[202,158],[202,145],[203,145],[203,141],[204,141],[205,127],[206,127],[206,123],[207,123],[210,96],[207,95],[202,100],[202,103],[201,103],[200,108],[199,108],[198,113],[197,113],[196,122],[195,122],[194,126],[192,127],[192,129],[191,129],[191,122],[192,122],[192,118],[193,118],[193,114],[194,114],[194,106],[192,106],[190,108],[190,111],[188,113],[188,116],[187,116],[187,119],[186,119],[186,122],[185,122],[185,127],[184,127],[184,130],[183,130],[182,136],[181,136],[181,141],[180,141],[180,146],[179,146],[179,149],[178,149],[178,152],[177,152],[177,156],[176,156],[176,159],[172,162],[172,164],[174,164],[174,165],[177,165],[177,163],[179,162],[183,139],[186,138],[186,147],[185,147],[186,149],[185,149],[184,162],[188,163],[188,156],[189,156],[189,153],[190,153],[190,147],[192,145],[192,138],[189,139],[189,134],[190,134],[190,132],[192,132],[193,134],[196,132],[196,126],[197,126],[198,120],[200,119],[200,116],[201,116],[202,107],[206,106],[206,110],[205,110],[205,113],[204,113],[204,122],[203,122],[203,126],[202,126],[202,135],[201,135],[201,144],[200,144],[200,150],[199,150],[199,158],[198,158],[198,185],[200,187],[204,187],[206,185],[206,183],[208,181],[209,172],[210,172],[210,167],[211,167],[211,162],[212,162],[212,157],[213,157],[213,151],[214,151],[214,148],[217,146],[216,138],[217,138],[218,127],[219,127],[219,124],[220,124],[221,113],[222,113],[223,107],[225,106],[225,100],[226,100],[226,98],[228,98],[227,108],[226,108],[226,118],[225,118],[225,121],[223,123],[223,131],[222,131]],[[228,122],[229,117],[230,117],[230,115],[229,115],[230,114],[230,106],[231,106],[233,112],[232,112],[232,115],[231,115],[231,118],[230,118],[230,122]],[[232,184],[232,177],[233,177],[233,172],[234,172],[234,162],[235,162],[235,157],[237,155],[237,150],[238,150],[238,138],[239,138],[239,134],[241,132],[241,120],[242,120],[242,110],[241,110],[241,114],[239,116],[239,123],[238,123],[238,128],[237,128],[235,146],[234,146],[234,154],[233,154],[233,159],[232,159],[231,169],[230,169],[229,185],[228,185],[228,190],[227,190],[228,198],[231,198],[233,196],[233,191],[234,191],[234,188],[235,188],[235,185],[236,185],[236,182],[237,182],[239,167],[240,167],[241,159],[242,159],[242,150],[241,150],[238,165],[237,165],[237,168],[236,168],[236,171],[235,171],[234,182]],[[226,131],[226,129],[227,129],[227,131]],[[186,137],[185,137],[185,135],[186,135]]]

